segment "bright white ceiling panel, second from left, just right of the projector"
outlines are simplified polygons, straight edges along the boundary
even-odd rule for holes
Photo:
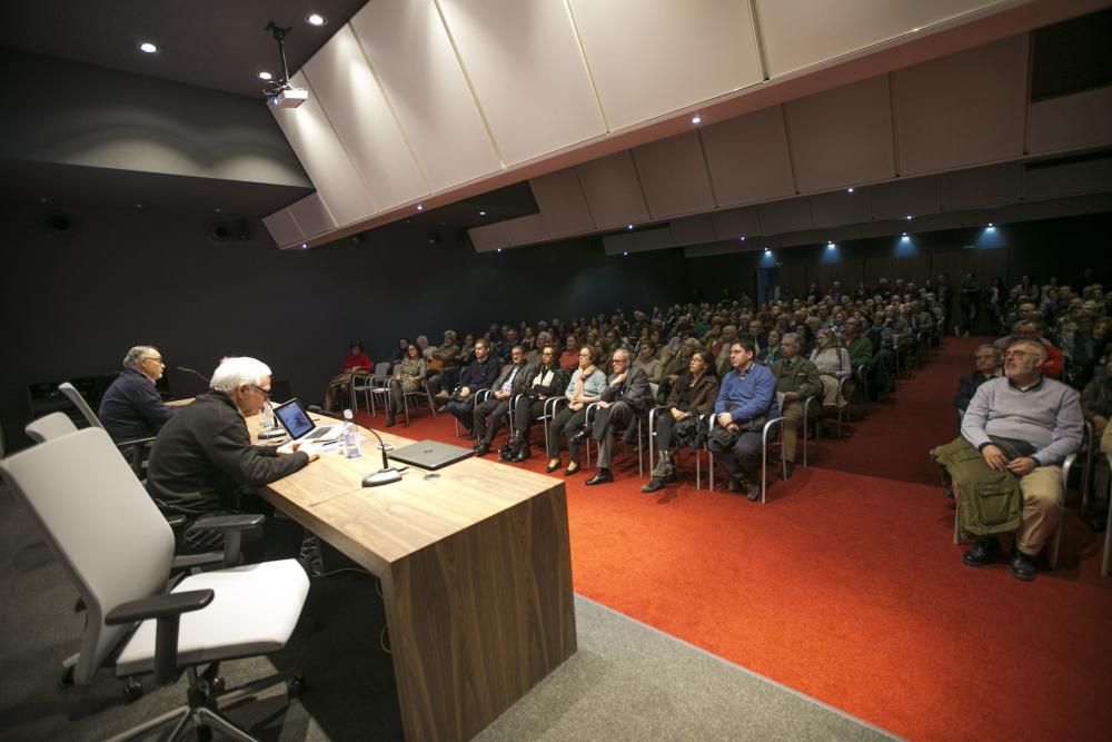
[[[302,71],[377,211],[429,192],[350,26],[337,31]]]

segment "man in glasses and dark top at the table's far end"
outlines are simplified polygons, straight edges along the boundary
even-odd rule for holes
[[[173,417],[155,382],[162,378],[162,354],[150,345],[137,345],[123,356],[123,373],[100,400],[98,417],[112,441],[137,441],[156,435]]]

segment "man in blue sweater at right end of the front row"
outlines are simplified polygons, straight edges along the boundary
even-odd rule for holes
[[[715,426],[737,437],[731,446],[711,438],[711,455],[729,473],[729,491],[744,492],[751,502],[761,496],[754,472],[761,465],[762,428],[766,419],[780,416],[776,378],[767,366],[754,362],[755,355],[756,346],[747,337],[731,344],[731,370],[722,379],[714,414]]]

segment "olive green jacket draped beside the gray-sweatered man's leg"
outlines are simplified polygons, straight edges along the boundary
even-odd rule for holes
[[[959,436],[931,451],[954,482],[962,532],[974,536],[1011,533],[1020,527],[1023,493],[1011,472],[997,472],[981,452]]]

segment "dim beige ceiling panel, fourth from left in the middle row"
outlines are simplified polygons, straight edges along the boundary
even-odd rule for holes
[[[718,206],[795,195],[784,112],[765,108],[699,131]]]

